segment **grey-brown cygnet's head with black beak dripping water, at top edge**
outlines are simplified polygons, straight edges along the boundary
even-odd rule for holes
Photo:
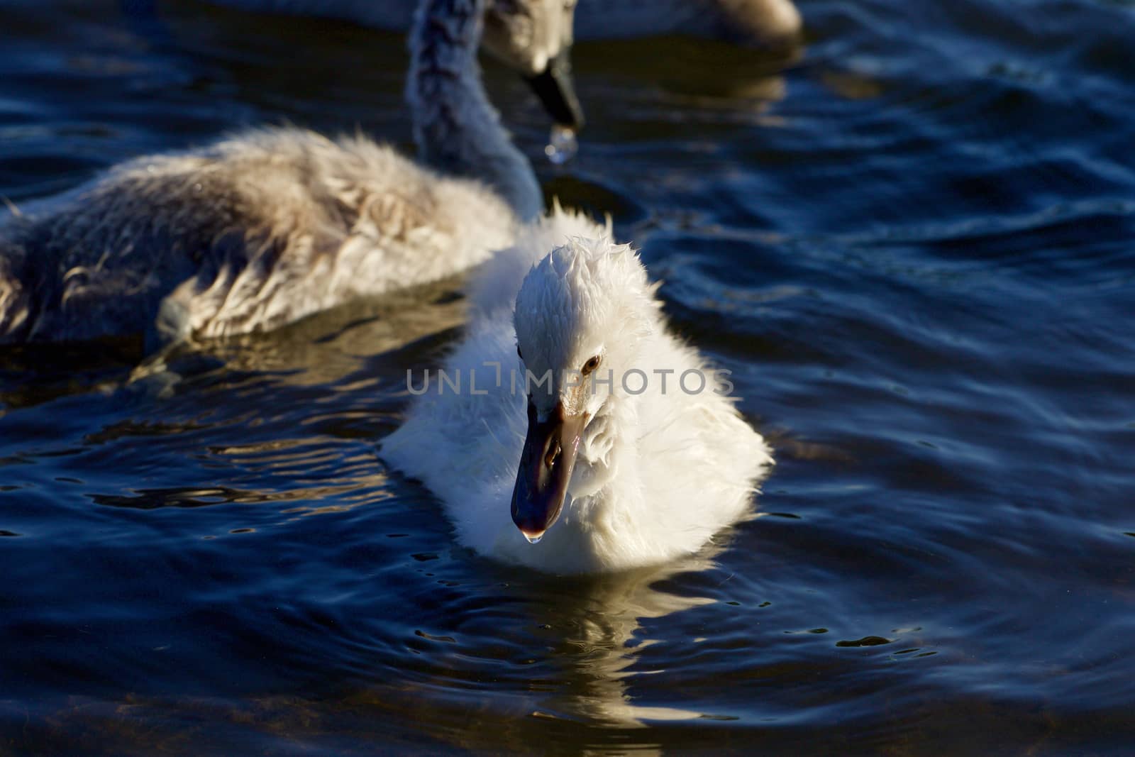
[[[577,0],[487,0],[481,44],[520,72],[560,125],[579,131],[583,111],[569,53]]]

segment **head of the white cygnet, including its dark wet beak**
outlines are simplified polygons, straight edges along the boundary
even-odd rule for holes
[[[639,364],[657,308],[638,255],[609,238],[570,239],[524,277],[513,319],[528,432],[512,519],[529,541],[560,516],[580,440]]]

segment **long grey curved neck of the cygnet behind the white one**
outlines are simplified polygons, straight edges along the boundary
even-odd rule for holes
[[[544,200],[536,175],[489,103],[477,62],[486,0],[421,0],[410,33],[406,99],[421,159],[490,185],[529,220]]]

